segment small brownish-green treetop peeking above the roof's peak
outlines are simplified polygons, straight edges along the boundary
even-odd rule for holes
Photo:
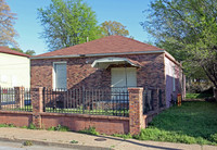
[[[119,35],[119,36],[128,36],[129,32],[126,29],[126,26],[124,26],[119,22],[112,22],[112,21],[105,21],[101,24],[102,29],[102,36],[111,36],[111,35]]]

